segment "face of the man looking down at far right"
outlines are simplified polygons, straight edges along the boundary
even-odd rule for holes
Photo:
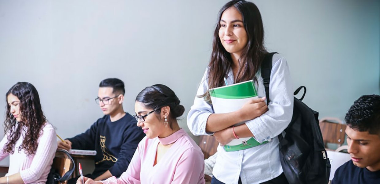
[[[380,170],[380,136],[359,132],[347,126],[348,153],[353,164],[370,171]]]

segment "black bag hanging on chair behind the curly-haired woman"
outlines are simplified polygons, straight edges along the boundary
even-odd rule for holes
[[[58,184],[58,182],[67,181],[68,179],[70,179],[71,174],[73,174],[73,172],[75,170],[75,163],[74,163],[73,158],[70,156],[69,152],[67,152],[64,149],[57,149],[57,152],[55,152],[55,153],[58,153],[58,152],[62,152],[63,155],[65,155],[66,157],[68,157],[70,159],[71,164],[73,165],[73,168],[71,168],[69,171],[67,171],[65,174],[63,174],[63,176],[61,176],[59,174],[59,171],[56,168],[52,167],[50,172],[49,172],[49,175],[47,175],[46,184]]]

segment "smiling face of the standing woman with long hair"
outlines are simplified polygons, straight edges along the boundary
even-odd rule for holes
[[[234,6],[225,10],[220,18],[219,38],[227,52],[241,55],[248,42],[243,17]]]

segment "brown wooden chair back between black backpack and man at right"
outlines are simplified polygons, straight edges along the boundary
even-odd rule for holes
[[[325,148],[328,149],[327,143],[335,143],[342,146],[345,139],[345,124],[342,124],[340,119],[335,117],[325,117],[319,121],[319,126],[321,127],[321,132],[323,136],[323,142],[325,143]]]

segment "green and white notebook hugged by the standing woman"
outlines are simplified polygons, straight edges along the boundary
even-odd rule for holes
[[[215,113],[230,113],[240,109],[244,103],[258,98],[253,80],[240,82],[228,86],[217,87],[209,90],[212,107]],[[239,122],[234,125],[241,125]],[[258,146],[253,137],[234,139],[224,146],[225,151],[238,151]]]

